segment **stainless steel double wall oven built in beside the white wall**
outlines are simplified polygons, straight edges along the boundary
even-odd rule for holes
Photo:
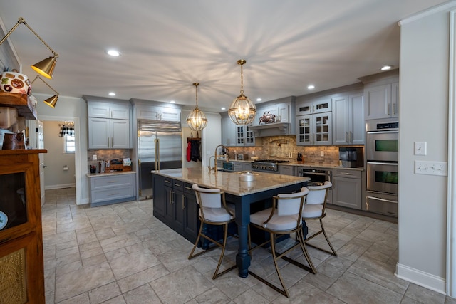
[[[363,209],[398,216],[397,120],[366,122],[367,188]]]

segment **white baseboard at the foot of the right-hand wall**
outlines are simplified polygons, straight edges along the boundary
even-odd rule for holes
[[[415,268],[411,268],[398,263],[396,265],[395,276],[410,283],[423,286],[427,289],[434,290],[437,293],[446,295],[445,278],[434,276],[430,273],[425,273]]]

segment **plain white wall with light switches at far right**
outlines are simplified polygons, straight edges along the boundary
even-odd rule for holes
[[[441,293],[446,276],[447,177],[414,174],[414,161],[447,162],[448,11],[404,21],[400,32],[397,274]],[[413,154],[414,142],[427,142],[426,156]]]

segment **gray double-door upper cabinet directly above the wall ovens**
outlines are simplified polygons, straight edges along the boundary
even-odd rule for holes
[[[398,70],[360,78],[364,87],[364,119],[399,116]],[[381,77],[381,78],[380,78]]]

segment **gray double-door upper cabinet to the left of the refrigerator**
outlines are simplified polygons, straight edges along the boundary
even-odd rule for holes
[[[88,106],[88,149],[131,149],[131,104],[83,96]]]

